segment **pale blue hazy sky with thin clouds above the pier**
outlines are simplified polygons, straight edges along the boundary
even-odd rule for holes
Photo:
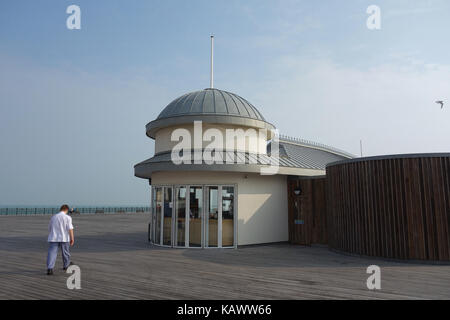
[[[215,87],[280,133],[355,155],[360,140],[364,156],[449,152],[449,13],[447,0],[2,1],[0,205],[148,205],[133,173],[153,155],[145,124],[209,86],[211,34]]]

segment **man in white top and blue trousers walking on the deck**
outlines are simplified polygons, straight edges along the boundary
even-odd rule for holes
[[[69,245],[73,246],[73,225],[72,218],[68,215],[69,206],[67,204],[62,205],[59,209],[59,213],[55,214],[50,219],[48,226],[48,256],[47,256],[47,274],[53,274],[53,268],[55,267],[56,256],[58,255],[58,247],[61,248],[63,257],[64,270],[67,270],[70,262]]]

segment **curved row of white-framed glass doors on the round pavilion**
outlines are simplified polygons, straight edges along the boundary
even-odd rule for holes
[[[234,247],[235,187],[154,186],[150,241],[176,247]]]

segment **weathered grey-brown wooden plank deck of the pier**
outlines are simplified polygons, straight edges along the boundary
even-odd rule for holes
[[[73,218],[68,274],[45,274],[49,216],[0,217],[0,299],[450,299],[450,266],[349,257],[326,247],[267,245],[223,250],[170,249],[147,242],[146,214]],[[366,287],[367,266],[381,287]]]

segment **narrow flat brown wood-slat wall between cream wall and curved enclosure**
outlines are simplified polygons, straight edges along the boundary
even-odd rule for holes
[[[327,244],[326,184],[324,178],[288,180],[289,242]],[[300,187],[301,195],[294,189]],[[303,220],[296,224],[295,220]]]

